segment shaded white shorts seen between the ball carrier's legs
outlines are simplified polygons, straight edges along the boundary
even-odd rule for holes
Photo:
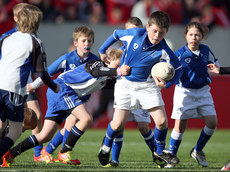
[[[128,121],[151,123],[150,114],[147,110],[136,109],[130,112]]]

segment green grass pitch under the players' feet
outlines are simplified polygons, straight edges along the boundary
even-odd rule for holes
[[[200,167],[197,162],[189,156],[189,152],[195,146],[200,131],[201,130],[187,129],[178,152],[178,157],[181,162],[173,169],[159,169],[152,162],[149,148],[145,144],[139,131],[135,129],[125,130],[119,167],[102,167],[98,162],[97,154],[106,130],[88,129],[73,150],[73,157],[78,158],[82,162],[79,166],[66,165],[60,162],[53,164],[34,162],[33,149],[31,149],[16,157],[10,168],[1,168],[0,171],[220,171],[221,167],[230,160],[230,130],[217,129],[211,140],[207,143],[204,152],[209,162],[209,167],[206,168]],[[31,131],[23,133],[17,143],[30,134]],[[169,130],[167,135],[166,148],[169,146],[170,134],[171,130]],[[54,158],[57,158],[59,150],[60,147],[55,151]]]

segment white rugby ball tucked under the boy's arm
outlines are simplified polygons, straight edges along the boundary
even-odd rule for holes
[[[169,81],[175,75],[174,67],[167,62],[158,62],[151,69],[151,75]]]

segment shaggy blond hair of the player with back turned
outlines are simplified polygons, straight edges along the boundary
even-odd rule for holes
[[[18,12],[18,30],[22,33],[37,33],[42,17],[42,11],[34,5],[28,5],[26,8],[22,8]]]

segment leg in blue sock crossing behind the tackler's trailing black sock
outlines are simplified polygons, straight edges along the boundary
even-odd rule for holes
[[[42,130],[42,113],[39,107],[37,97],[34,92],[27,96],[26,104],[27,107],[32,109],[37,116],[37,126],[35,129],[32,130],[32,134],[33,135],[38,134]],[[43,148],[42,144],[34,147],[34,161],[44,161],[40,153],[42,148]]]

